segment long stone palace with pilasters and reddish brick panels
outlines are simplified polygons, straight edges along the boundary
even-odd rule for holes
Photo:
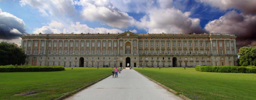
[[[237,65],[231,34],[27,34],[25,64],[97,67]]]

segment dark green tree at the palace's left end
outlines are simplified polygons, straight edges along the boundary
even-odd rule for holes
[[[15,43],[0,43],[0,65],[21,65],[25,63],[26,54]]]

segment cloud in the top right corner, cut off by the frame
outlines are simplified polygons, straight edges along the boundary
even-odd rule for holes
[[[255,0],[200,0],[202,3],[219,7],[226,10],[228,8],[236,8],[242,10],[244,14],[256,14]]]

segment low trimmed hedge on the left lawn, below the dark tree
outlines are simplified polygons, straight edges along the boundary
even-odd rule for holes
[[[6,65],[0,66],[0,72],[51,72],[64,71],[63,66],[31,66],[31,65]]]

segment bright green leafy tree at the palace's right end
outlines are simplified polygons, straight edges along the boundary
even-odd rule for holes
[[[242,47],[239,49],[239,64],[241,66],[256,65],[256,46]]]

